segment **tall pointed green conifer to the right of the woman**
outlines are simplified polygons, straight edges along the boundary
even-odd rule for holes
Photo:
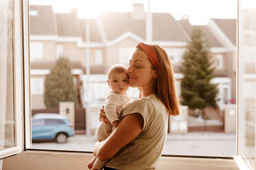
[[[181,82],[182,104],[190,109],[203,109],[206,106],[216,107],[217,84],[210,81],[215,67],[209,45],[199,27],[191,32],[191,40],[184,53]]]

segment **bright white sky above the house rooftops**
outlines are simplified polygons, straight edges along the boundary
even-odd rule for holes
[[[98,12],[131,12],[133,3],[144,3],[147,12],[149,0],[30,0],[30,5],[52,5],[54,12],[77,8],[79,18],[96,18]],[[150,4],[151,12],[168,12],[176,20],[187,15],[192,25],[205,25],[210,18],[237,18],[237,0],[150,0]]]

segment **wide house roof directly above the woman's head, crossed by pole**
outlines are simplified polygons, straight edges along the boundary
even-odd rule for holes
[[[107,40],[131,32],[146,39],[145,19],[133,19],[131,12],[106,12],[99,14]],[[186,36],[169,13],[152,13],[153,41],[186,41]]]

